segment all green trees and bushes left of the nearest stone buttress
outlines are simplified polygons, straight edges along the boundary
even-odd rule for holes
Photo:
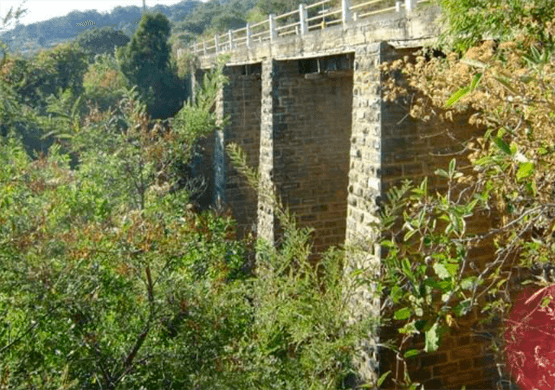
[[[168,55],[163,43],[154,54]],[[310,232],[279,203],[280,249],[238,240],[229,216],[190,207],[181,167],[221,125],[223,64],[162,122],[125,59],[102,55],[84,74],[68,65],[83,89],[37,101],[24,95],[46,86],[27,87],[23,70],[15,82],[18,60],[37,61],[1,68],[0,388],[344,388],[365,327],[345,323],[343,253],[314,268]],[[108,93],[108,82],[120,88]],[[31,119],[42,153],[17,126]]]

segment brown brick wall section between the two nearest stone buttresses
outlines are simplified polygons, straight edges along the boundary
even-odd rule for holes
[[[275,77],[274,183],[322,252],[345,240],[352,77],[306,79],[299,61]]]

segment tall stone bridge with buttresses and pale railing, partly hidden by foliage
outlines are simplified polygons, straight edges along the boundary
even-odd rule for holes
[[[387,103],[381,93],[378,66],[437,37],[439,10],[415,0],[355,6],[343,0],[338,9],[316,12],[327,3],[270,15],[190,49],[198,57],[196,79],[229,53],[230,82],[216,109],[230,122],[204,141],[199,170],[211,178],[212,202],[229,207],[243,233],[279,241],[272,205],[257,197],[224,153],[226,144],[237,143],[264,185],[274,186],[300,224],[314,229],[316,253],[355,244],[376,254],[370,223],[383,192],[401,179],[432,174],[451,158],[443,152],[457,144],[447,135],[429,137],[430,130],[408,116],[409,102]],[[451,130],[469,136],[463,126]],[[368,291],[359,298],[360,312],[379,312]],[[361,372],[371,378],[376,351],[370,345],[366,352]],[[415,378],[426,389],[495,388],[493,359],[470,331],[415,361]]]

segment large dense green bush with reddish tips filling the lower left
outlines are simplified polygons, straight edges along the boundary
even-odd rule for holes
[[[2,387],[210,388],[251,321],[231,221],[169,190],[200,131],[151,127],[126,95],[127,129],[109,112],[81,126],[69,90],[49,100],[76,170],[58,145],[33,161],[0,139]]]

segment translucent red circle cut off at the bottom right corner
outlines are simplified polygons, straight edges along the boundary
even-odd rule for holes
[[[507,367],[520,389],[555,389],[555,285],[525,290],[505,325]]]

